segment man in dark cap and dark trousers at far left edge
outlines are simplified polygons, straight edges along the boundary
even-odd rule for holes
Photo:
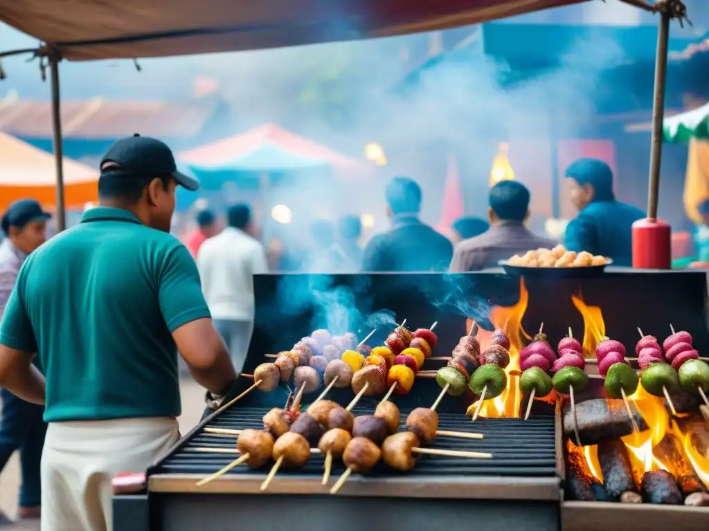
[[[13,202],[0,219],[0,227],[5,236],[0,243],[0,321],[22,264],[30,253],[45,242],[45,230],[50,217],[37,201],[23,199]],[[38,367],[36,358],[33,362]],[[13,452],[20,450],[22,481],[18,516],[39,518],[40,457],[47,430],[42,418],[44,407],[18,398],[4,387],[0,389],[0,399],[0,471]],[[9,520],[0,513],[0,524],[3,523],[9,523]]]

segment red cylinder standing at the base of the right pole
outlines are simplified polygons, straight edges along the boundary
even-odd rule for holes
[[[642,269],[670,269],[672,230],[661,219],[638,219],[632,224],[632,266]]]

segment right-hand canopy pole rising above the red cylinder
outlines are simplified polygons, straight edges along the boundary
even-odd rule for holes
[[[664,3],[664,2],[663,2]],[[664,117],[664,94],[667,79],[667,48],[671,12],[660,11],[657,28],[657,56],[655,57],[655,88],[652,101],[652,140],[650,141],[650,175],[647,190],[647,217],[657,219],[657,203],[660,190],[660,166],[662,161],[662,118]]]

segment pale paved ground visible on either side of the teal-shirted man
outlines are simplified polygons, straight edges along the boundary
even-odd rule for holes
[[[179,418],[182,433],[189,431],[194,426],[204,409],[203,389],[191,380],[182,382],[182,416]],[[17,510],[17,491],[19,486],[19,467],[17,453],[0,476],[0,508],[6,515],[14,518]],[[10,527],[0,527],[8,531],[38,531],[38,522],[18,523]]]

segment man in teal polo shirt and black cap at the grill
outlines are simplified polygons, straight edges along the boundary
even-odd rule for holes
[[[242,390],[196,263],[169,234],[177,185],[199,188],[167,145],[119,140],[101,161],[99,206],[18,274],[0,387],[45,406],[43,531],[111,530],[113,476],[145,472],[179,438],[178,351],[208,409]]]

